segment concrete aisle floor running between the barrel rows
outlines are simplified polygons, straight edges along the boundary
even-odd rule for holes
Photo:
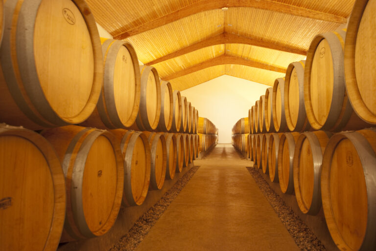
[[[230,144],[217,145],[137,250],[299,250]]]

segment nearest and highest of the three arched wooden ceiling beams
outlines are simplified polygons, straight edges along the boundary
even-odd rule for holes
[[[201,0],[199,2],[192,3],[186,7],[183,7],[179,10],[171,12],[163,17],[144,22],[137,27],[134,27],[120,34],[116,34],[114,36],[114,39],[122,40],[140,34],[142,32],[158,28],[167,23],[189,17],[199,12],[221,9],[224,7],[250,7],[285,13],[298,17],[337,23],[346,23],[347,21],[344,17],[335,16],[332,14],[310,10],[281,2],[275,2],[271,0]]]

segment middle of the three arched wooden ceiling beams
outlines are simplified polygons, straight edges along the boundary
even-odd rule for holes
[[[268,48],[268,49],[273,49],[273,50],[279,50],[279,51],[285,51],[285,52],[290,52],[290,53],[295,53],[295,54],[300,54],[300,55],[307,55],[307,52],[305,50],[301,49],[296,49],[293,47],[290,47],[288,45],[284,45],[281,43],[276,43],[276,42],[264,42],[262,40],[258,39],[252,39],[252,38],[247,38],[247,37],[242,37],[239,35],[231,34],[231,33],[221,33],[218,34],[214,37],[208,38],[206,40],[200,41],[193,43],[191,45],[188,45],[187,47],[184,47],[180,50],[174,51],[170,54],[167,54],[161,58],[155,59],[153,61],[150,61],[148,63],[145,63],[146,65],[153,65],[156,63],[161,63],[163,61],[176,58],[179,56],[182,56],[184,54],[187,54],[192,51],[196,51],[208,46],[212,45],[218,45],[218,44],[226,44],[226,43],[242,43],[242,44],[249,44],[249,45],[254,45],[254,46],[259,46],[263,48]]]

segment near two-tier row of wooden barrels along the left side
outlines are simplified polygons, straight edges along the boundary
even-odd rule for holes
[[[103,235],[193,164],[198,111],[84,0],[1,1],[0,20],[0,250]]]

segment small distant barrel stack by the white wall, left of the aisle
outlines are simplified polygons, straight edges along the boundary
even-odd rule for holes
[[[197,132],[202,156],[218,143],[218,129],[207,118],[198,118]]]

